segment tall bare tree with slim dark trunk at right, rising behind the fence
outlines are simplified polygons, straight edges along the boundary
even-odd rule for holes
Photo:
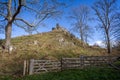
[[[117,0],[99,0],[94,3],[93,10],[96,13],[99,28],[104,32],[107,51],[111,53],[111,39],[114,36],[118,19],[116,18]]]

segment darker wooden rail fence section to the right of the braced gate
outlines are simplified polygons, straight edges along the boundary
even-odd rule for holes
[[[82,69],[86,67],[104,67],[115,61],[117,57],[113,56],[80,56],[80,58],[62,58],[62,70],[64,69]]]

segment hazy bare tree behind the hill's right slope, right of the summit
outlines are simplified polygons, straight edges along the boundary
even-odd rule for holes
[[[71,12],[70,18],[74,19],[73,28],[75,31],[79,32],[81,41],[88,42],[90,38],[90,33],[92,29],[89,26],[88,22],[91,20],[90,9],[88,6],[81,5],[77,8],[74,8]]]

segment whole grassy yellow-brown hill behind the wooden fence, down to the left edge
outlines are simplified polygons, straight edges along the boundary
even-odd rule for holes
[[[50,32],[21,36],[12,39],[11,54],[0,54],[0,72],[22,73],[25,59],[54,59],[80,55],[105,55],[105,50],[91,47],[61,27]]]

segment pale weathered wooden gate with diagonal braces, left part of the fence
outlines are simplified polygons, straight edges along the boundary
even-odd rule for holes
[[[37,74],[48,71],[58,71],[60,69],[61,69],[61,64],[59,61],[31,59],[29,74]]]

